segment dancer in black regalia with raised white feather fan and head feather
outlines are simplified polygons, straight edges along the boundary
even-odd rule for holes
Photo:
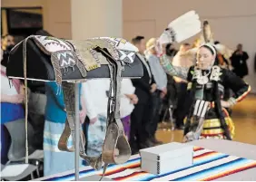
[[[195,66],[173,66],[162,49],[165,43],[180,43],[199,33],[201,23],[198,22],[199,16],[194,11],[183,14],[168,25],[155,46],[164,71],[189,81],[191,85],[192,106],[187,117],[183,141],[203,138],[232,139],[234,125],[225,108],[230,108],[241,101],[251,91],[251,87],[233,72],[218,66],[217,50],[212,45],[212,33],[208,22],[203,23],[205,43],[197,50]],[[183,24],[190,25],[189,32],[182,32]],[[228,101],[222,101],[224,88],[231,89],[234,93]]]

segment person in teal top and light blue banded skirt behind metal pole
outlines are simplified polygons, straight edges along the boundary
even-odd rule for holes
[[[80,121],[84,123],[86,111],[81,89],[82,84],[79,83]],[[49,81],[45,83],[45,94],[47,101],[44,123],[44,176],[49,176],[74,169],[74,152],[60,151],[58,148],[58,141],[64,131],[66,120],[63,90],[58,92],[57,83]],[[68,147],[72,144],[73,140],[70,137]]]

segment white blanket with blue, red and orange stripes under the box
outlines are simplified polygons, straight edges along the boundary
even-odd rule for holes
[[[111,165],[107,169],[105,177],[112,178],[113,180],[117,181],[209,181],[238,173],[249,168],[256,169],[255,160],[238,158],[235,156],[212,151],[210,149],[195,147],[192,167],[182,168],[170,173],[156,176],[141,171],[140,158],[138,155],[136,155],[123,165]],[[102,171],[85,169],[80,172],[80,177],[101,174]],[[60,177],[51,177],[45,180],[74,180],[74,174]]]

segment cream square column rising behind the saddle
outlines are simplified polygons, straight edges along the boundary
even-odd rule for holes
[[[122,37],[122,0],[72,0],[72,38]]]

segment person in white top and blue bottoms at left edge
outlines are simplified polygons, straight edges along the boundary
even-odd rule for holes
[[[3,51],[3,50],[2,50]],[[7,129],[7,125],[12,123],[24,124],[25,127],[25,92],[22,83],[17,80],[9,80],[6,76],[6,67],[2,65],[3,59],[1,58],[1,97],[0,97],[0,108],[1,108],[1,139],[0,139],[0,150],[1,150],[1,164],[5,164],[10,158],[8,158],[9,149],[14,145]],[[10,123],[12,122],[12,123]],[[25,135],[25,132],[20,130],[20,135]],[[14,139],[14,138],[13,138]],[[15,142],[22,143],[25,146],[25,140],[22,138],[15,138]],[[21,148],[25,149],[25,148]]]

